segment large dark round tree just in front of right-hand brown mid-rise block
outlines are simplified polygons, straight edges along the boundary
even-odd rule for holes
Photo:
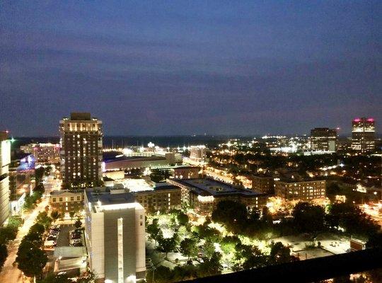
[[[325,211],[318,205],[299,202],[294,206],[292,216],[294,225],[300,232],[312,233],[324,228]]]

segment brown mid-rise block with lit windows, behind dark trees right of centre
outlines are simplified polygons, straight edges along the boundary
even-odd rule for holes
[[[325,180],[277,180],[274,181],[274,194],[284,200],[310,201],[325,198]]]

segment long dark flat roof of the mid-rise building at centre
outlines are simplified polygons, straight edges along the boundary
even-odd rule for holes
[[[187,185],[187,187],[190,187],[190,189],[197,193],[197,195],[213,195],[214,197],[223,195],[242,195],[246,197],[263,195],[261,192],[235,187],[233,185],[229,185],[212,178],[173,180],[176,183]]]

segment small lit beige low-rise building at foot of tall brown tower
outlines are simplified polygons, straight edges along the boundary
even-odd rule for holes
[[[54,190],[50,206],[61,213],[79,212],[83,209],[83,190]]]

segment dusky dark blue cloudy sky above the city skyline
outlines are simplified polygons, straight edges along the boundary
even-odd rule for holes
[[[382,125],[382,1],[1,1],[0,128],[350,132]]]

